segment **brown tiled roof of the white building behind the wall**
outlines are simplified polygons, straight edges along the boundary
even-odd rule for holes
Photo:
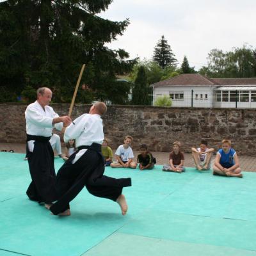
[[[150,86],[230,86],[253,85],[256,77],[252,78],[208,78],[200,74],[182,74],[169,79],[151,84]]]

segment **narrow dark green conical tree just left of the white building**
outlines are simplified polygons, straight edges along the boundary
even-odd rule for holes
[[[134,82],[132,90],[132,104],[134,105],[150,105],[149,87],[147,83],[147,75],[145,68],[141,66]]]

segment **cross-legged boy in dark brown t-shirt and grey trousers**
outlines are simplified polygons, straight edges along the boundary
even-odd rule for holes
[[[173,142],[173,151],[169,156],[169,164],[164,164],[163,171],[164,172],[185,172],[184,167],[184,154],[180,152],[180,142]]]

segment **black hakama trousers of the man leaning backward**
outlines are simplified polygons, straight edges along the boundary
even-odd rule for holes
[[[103,175],[104,159],[102,155],[88,149],[79,160],[72,164],[77,152],[69,157],[57,173],[56,187],[59,200],[50,208],[53,214],[59,214],[69,208],[78,193],[86,186],[89,193],[95,196],[116,201],[125,186],[131,186],[131,179],[115,179]]]

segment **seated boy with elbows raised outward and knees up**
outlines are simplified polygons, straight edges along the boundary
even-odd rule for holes
[[[201,140],[199,148],[191,148],[196,169],[199,171],[210,169],[214,148],[207,148],[207,144],[207,141]]]

